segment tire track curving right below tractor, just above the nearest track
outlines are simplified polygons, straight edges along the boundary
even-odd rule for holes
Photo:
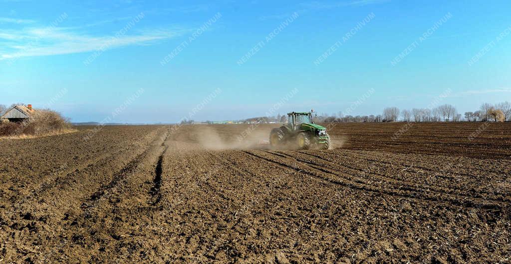
[[[277,155],[276,153],[272,153],[272,152],[268,152],[268,153]],[[296,160],[301,161],[301,162],[305,162],[308,165],[314,167],[314,169],[318,169],[318,166],[319,167],[328,167],[328,169],[332,169],[332,170],[347,169],[349,171],[355,172],[356,174],[349,174],[349,175],[351,175],[353,178],[358,179],[357,182],[361,182],[361,183],[367,183],[365,181],[366,179],[361,178],[361,177],[356,177],[355,175],[365,174],[365,175],[368,175],[368,176],[372,176],[374,178],[377,178],[377,179],[380,179],[382,181],[385,181],[387,184],[392,185],[393,187],[396,187],[398,189],[406,189],[406,190],[414,191],[414,192],[417,192],[417,193],[419,193],[419,192],[429,192],[429,193],[434,193],[436,195],[442,195],[442,194],[447,193],[447,194],[450,194],[450,195],[453,195],[453,196],[458,196],[459,199],[467,199],[467,198],[469,198],[469,199],[482,199],[483,201],[489,202],[489,203],[492,203],[492,202],[493,203],[511,202],[510,200],[504,199],[504,198],[500,199],[500,198],[489,197],[492,194],[489,194],[489,193],[486,193],[486,192],[473,193],[472,196],[468,196],[468,195],[464,195],[464,194],[460,193],[460,191],[461,191],[460,189],[454,189],[454,188],[453,189],[445,189],[445,188],[437,188],[437,187],[434,187],[434,186],[424,186],[424,185],[420,185],[419,183],[413,183],[413,182],[410,182],[410,181],[407,181],[407,180],[404,180],[404,179],[398,180],[396,178],[388,177],[388,176],[377,174],[377,173],[369,173],[369,171],[364,171],[364,170],[356,169],[356,168],[354,168],[352,166],[349,166],[349,165],[337,164],[337,163],[331,162],[329,160],[326,160],[326,159],[324,159],[324,158],[322,158],[320,156],[316,156],[316,155],[309,154],[309,153],[306,153],[306,152],[297,152],[297,153],[304,154],[304,155],[307,155],[307,156],[310,156],[310,157],[314,157],[316,159],[320,159],[321,161],[327,161],[329,164],[322,164],[322,163],[316,163],[316,162],[312,162],[312,161],[308,161],[308,160],[303,160],[303,159],[297,158],[295,156],[289,155],[289,154],[284,153],[284,152],[277,152],[277,153],[278,154],[282,154],[282,155],[277,155],[277,156],[286,156],[286,157],[293,158],[293,159],[296,159]],[[339,175],[338,173],[335,173],[335,172],[332,172],[332,171],[329,171],[329,173],[335,174],[335,175],[337,175],[339,177],[343,177],[342,175]],[[406,188],[402,188],[403,186],[405,186]],[[486,196],[483,196],[483,194],[485,194]]]

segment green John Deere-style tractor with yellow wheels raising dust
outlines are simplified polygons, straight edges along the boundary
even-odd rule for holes
[[[308,150],[318,148],[328,150],[330,148],[330,136],[327,134],[327,129],[312,122],[312,113],[288,113],[288,123],[271,130],[271,147],[274,149]]]

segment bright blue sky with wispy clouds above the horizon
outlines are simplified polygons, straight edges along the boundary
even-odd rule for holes
[[[354,103],[351,114],[373,114],[449,91],[441,103],[475,110],[511,100],[509,10],[509,1],[0,0],[0,104],[153,123]]]

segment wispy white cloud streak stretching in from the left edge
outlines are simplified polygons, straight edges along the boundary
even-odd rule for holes
[[[180,35],[184,31],[146,30],[138,34],[90,36],[66,28],[0,30],[0,60],[51,56],[114,49],[152,43]]]

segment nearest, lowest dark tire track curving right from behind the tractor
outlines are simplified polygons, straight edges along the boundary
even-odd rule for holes
[[[446,203],[446,204],[457,205],[457,206],[466,207],[466,208],[494,210],[494,211],[495,210],[496,211],[502,211],[502,209],[503,209],[502,208],[503,206],[500,205],[500,204],[498,204],[498,205],[493,204],[493,203],[491,203],[491,204],[487,204],[487,203],[486,204],[481,204],[481,203],[474,203],[473,201],[470,201],[470,200],[461,200],[460,201],[460,200],[457,200],[457,199],[449,199],[447,197],[442,197],[442,196],[434,197],[434,196],[428,196],[428,195],[424,195],[424,194],[410,194],[410,193],[406,193],[406,192],[401,191],[401,190],[386,189],[384,187],[382,187],[381,189],[377,189],[376,186],[372,186],[372,185],[364,184],[364,183],[359,183],[359,182],[356,182],[356,181],[353,181],[353,180],[350,180],[350,179],[339,177],[338,175],[330,173],[329,171],[324,170],[322,168],[314,168],[314,167],[309,166],[307,164],[301,163],[300,165],[303,165],[307,169],[312,169],[312,170],[301,170],[298,166],[295,167],[295,166],[286,164],[286,163],[284,163],[282,161],[266,158],[266,157],[260,156],[258,154],[251,153],[249,151],[243,151],[243,152],[245,152],[245,153],[247,153],[247,154],[249,154],[251,156],[255,156],[255,157],[258,157],[260,159],[264,159],[264,160],[276,163],[276,164],[278,164],[278,165],[280,165],[280,166],[282,166],[282,167],[284,167],[286,169],[291,169],[291,170],[296,171],[298,173],[307,174],[307,175],[309,175],[312,178],[315,178],[317,180],[327,181],[327,182],[330,182],[330,183],[335,184],[335,185],[344,186],[344,187],[348,187],[348,188],[352,188],[352,189],[368,191],[370,193],[385,194],[385,195],[389,195],[389,196],[392,196],[392,197],[404,197],[404,198],[409,198],[409,199],[413,199],[413,200],[423,200],[423,201],[429,201],[429,202]],[[269,154],[273,154],[273,153],[269,153]],[[273,155],[277,156],[277,157],[281,157],[281,156],[278,156],[278,155],[275,155],[275,154],[273,154]],[[315,173],[314,171],[320,171],[321,173],[317,173],[317,172]],[[337,179],[331,179],[331,178],[326,177],[324,175],[333,175]]]

